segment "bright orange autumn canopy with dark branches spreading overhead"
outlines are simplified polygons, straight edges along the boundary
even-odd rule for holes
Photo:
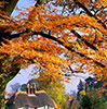
[[[36,63],[54,80],[73,72],[92,72],[98,81],[106,80],[106,0],[37,0],[16,20],[1,11],[1,58],[8,57],[10,69]]]

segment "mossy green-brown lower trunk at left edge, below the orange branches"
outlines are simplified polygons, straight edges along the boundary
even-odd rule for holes
[[[19,68],[12,64],[9,66],[9,57],[0,60],[0,109],[4,109],[4,96],[6,84],[17,74]],[[14,72],[14,74],[11,74]]]

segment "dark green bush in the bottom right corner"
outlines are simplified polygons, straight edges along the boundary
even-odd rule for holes
[[[83,109],[105,109],[106,99],[103,96],[98,96],[94,90],[86,93],[79,98],[80,105]]]

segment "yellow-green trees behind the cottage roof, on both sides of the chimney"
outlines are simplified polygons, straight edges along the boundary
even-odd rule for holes
[[[57,105],[57,109],[64,108],[66,109],[68,106],[67,97],[65,94],[65,86],[61,81],[52,81],[42,78],[30,80],[27,84],[35,83],[37,90],[45,90],[48,95],[53,98]],[[22,92],[26,92],[27,84],[23,84],[21,87]]]

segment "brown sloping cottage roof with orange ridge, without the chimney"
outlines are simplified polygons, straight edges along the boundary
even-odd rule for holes
[[[34,95],[28,95],[26,92],[17,92],[6,102],[6,105],[11,104],[14,104],[16,108],[22,108],[24,106],[32,108],[43,106],[56,107],[55,101],[44,90],[36,92]]]

